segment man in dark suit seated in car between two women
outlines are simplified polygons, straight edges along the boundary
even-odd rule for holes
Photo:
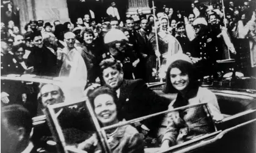
[[[127,121],[167,110],[169,99],[158,96],[141,79],[123,79],[121,63],[115,59],[106,59],[100,63],[103,82],[117,92],[119,98],[117,111]],[[156,133],[163,116],[142,121],[152,133]]]

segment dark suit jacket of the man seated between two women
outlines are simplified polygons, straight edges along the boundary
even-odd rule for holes
[[[168,109],[169,99],[158,96],[150,90],[142,79],[123,80],[120,87],[117,110],[122,118],[127,121],[134,118],[163,112]],[[143,121],[152,132],[158,129],[163,116],[146,119]]]

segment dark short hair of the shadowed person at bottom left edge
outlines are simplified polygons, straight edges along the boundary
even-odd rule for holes
[[[2,107],[1,116],[7,119],[7,124],[12,127],[24,127],[25,135],[28,136],[31,133],[32,116],[22,105],[13,104]]]

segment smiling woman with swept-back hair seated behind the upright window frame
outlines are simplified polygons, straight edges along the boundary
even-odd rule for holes
[[[108,87],[98,87],[89,93],[89,99],[102,126],[119,123],[115,91]],[[106,134],[111,152],[144,152],[142,135],[130,125],[109,129]],[[86,151],[97,150],[96,148],[95,135],[78,145],[78,149]]]

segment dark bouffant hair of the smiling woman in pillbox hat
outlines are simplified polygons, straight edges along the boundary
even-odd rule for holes
[[[172,82],[170,82],[170,70],[172,68],[180,69],[181,73],[188,74],[189,77],[189,85],[188,88],[197,88],[199,87],[199,82],[197,81],[196,76],[196,68],[191,63],[185,60],[176,60],[167,69],[166,72],[166,85],[164,87],[164,93],[177,93],[177,90],[172,86]]]

